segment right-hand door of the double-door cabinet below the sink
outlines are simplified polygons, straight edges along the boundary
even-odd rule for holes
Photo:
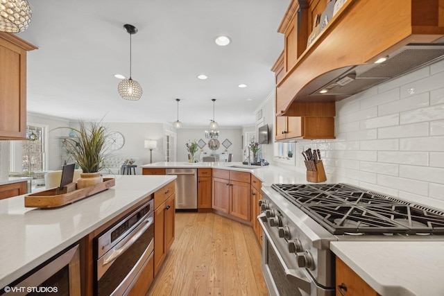
[[[250,183],[230,182],[230,215],[250,221]]]

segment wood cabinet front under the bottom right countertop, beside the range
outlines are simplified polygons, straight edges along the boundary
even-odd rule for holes
[[[336,295],[380,296],[364,279],[361,279],[348,265],[336,257]]]

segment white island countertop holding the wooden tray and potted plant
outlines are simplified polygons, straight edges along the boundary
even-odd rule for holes
[[[117,175],[110,189],[58,209],[0,200],[0,288],[146,198],[175,175]]]

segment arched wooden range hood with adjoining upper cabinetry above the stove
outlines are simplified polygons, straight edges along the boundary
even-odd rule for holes
[[[300,103],[334,103],[444,58],[443,10],[444,0],[293,0],[278,29],[276,115],[303,116]]]

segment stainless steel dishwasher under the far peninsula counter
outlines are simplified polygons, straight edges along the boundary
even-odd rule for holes
[[[177,175],[176,210],[197,210],[197,168],[167,168],[167,175]]]

